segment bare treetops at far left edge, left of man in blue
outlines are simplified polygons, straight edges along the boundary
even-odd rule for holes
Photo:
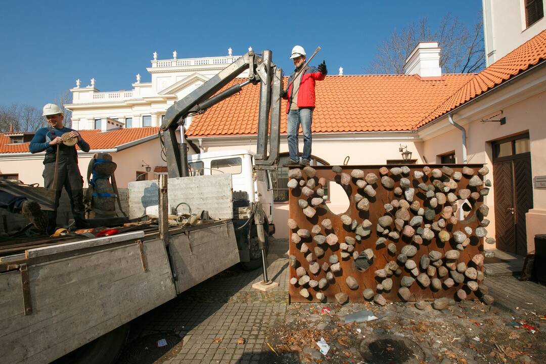
[[[35,132],[44,126],[40,110],[30,105],[0,106],[0,132]]]

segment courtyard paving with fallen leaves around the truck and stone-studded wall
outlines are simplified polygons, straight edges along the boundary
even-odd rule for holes
[[[136,319],[119,363],[530,364],[546,360],[546,335],[541,332],[545,325],[539,317],[546,313],[544,286],[514,277],[488,277],[486,285],[497,307],[453,300],[443,311],[429,304],[417,309],[413,303],[289,305],[287,250],[286,240],[271,242],[268,275],[279,286],[268,293],[251,288],[262,280],[261,270],[232,267]],[[522,300],[533,305],[523,306]],[[507,311],[517,305],[519,309]],[[347,314],[363,309],[379,319],[345,323]],[[326,356],[315,344],[321,337],[331,346]],[[158,348],[161,339],[167,345]]]

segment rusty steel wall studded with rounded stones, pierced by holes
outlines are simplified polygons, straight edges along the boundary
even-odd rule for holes
[[[481,164],[291,168],[290,300],[481,297],[487,173]],[[345,213],[322,199],[328,182],[347,193]],[[458,220],[465,199],[471,211]]]

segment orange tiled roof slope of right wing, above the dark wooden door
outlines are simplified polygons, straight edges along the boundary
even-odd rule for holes
[[[506,56],[491,64],[488,68],[474,75],[472,79],[462,85],[454,94],[435,108],[414,128],[447,114],[449,111],[470,101],[474,97],[489,91],[491,88],[517,76],[521,71],[529,69],[546,59],[546,30],[535,35]]]

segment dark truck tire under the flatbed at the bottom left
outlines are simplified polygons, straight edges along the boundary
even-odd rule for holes
[[[127,323],[60,357],[52,364],[112,364],[120,356],[128,335]]]

